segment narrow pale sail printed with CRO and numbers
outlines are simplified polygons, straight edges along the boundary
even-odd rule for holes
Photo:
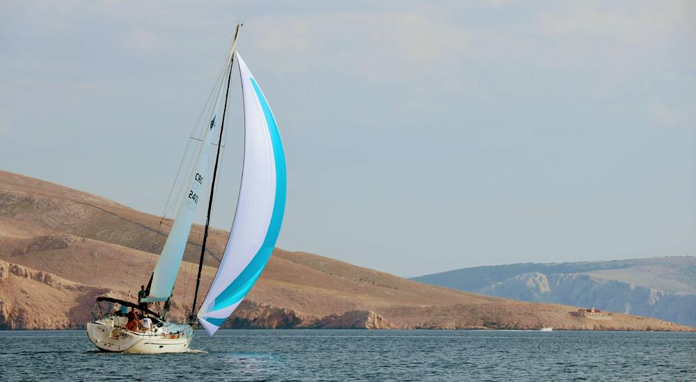
[[[230,60],[228,60],[228,63],[229,61]],[[193,167],[193,172],[191,172],[189,176],[189,184],[191,187],[187,190],[186,194],[183,195],[179,210],[177,210],[174,219],[174,224],[171,231],[169,231],[169,236],[164,243],[164,248],[162,248],[162,253],[155,266],[155,272],[152,274],[150,295],[148,298],[143,299],[143,301],[165,301],[171,296],[172,290],[174,289],[174,282],[179,272],[181,260],[184,257],[186,243],[189,240],[189,231],[191,231],[193,215],[196,213],[198,201],[205,200],[201,192],[203,191],[205,172],[208,166],[210,143],[215,130],[215,119],[219,110],[221,98],[224,94],[223,89],[225,89],[223,86],[219,89],[213,117],[210,121],[210,125],[205,128],[205,134],[202,140],[203,143],[196,156],[196,165]]]

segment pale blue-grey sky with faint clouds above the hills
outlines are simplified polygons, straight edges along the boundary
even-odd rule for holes
[[[244,22],[287,160],[278,247],[400,276],[694,256],[695,18],[693,1],[3,0],[0,169],[161,215]]]

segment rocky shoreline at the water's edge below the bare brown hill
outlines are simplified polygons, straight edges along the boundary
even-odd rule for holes
[[[10,301],[8,296],[0,299],[0,330],[61,330],[84,329],[90,317],[94,297],[109,295],[120,299],[127,298],[120,292],[106,288],[95,288],[65,280],[49,272],[37,271],[22,265],[0,260],[0,286],[3,291],[15,291],[19,299]],[[33,304],[36,294],[42,289],[59,292],[70,296],[78,304],[67,312],[59,306],[65,301],[45,301],[41,306]],[[54,306],[54,304],[56,304]],[[115,306],[106,304],[106,311],[115,310]],[[172,314],[183,316],[184,308],[179,304],[173,306]],[[646,319],[644,326],[621,327],[612,322],[593,322],[555,327],[555,330],[590,330],[590,331],[696,331],[696,329],[671,324],[654,322]],[[528,322],[491,321],[442,323],[422,322],[415,325],[397,325],[372,310],[349,310],[323,317],[298,313],[292,308],[260,304],[245,300],[222,326],[223,329],[466,329],[466,330],[538,330],[539,324]]]

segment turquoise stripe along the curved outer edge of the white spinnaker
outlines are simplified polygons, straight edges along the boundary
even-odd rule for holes
[[[271,108],[268,106],[266,98],[263,96],[263,93],[261,92],[261,89],[254,78],[250,77],[249,80],[254,87],[256,97],[258,97],[261,103],[261,108],[263,110],[264,117],[266,118],[269,134],[271,136],[271,145],[273,147],[276,162],[276,197],[274,200],[273,213],[271,213],[271,223],[269,224],[266,238],[264,238],[261,248],[254,255],[253,259],[251,262],[249,262],[246,268],[244,268],[242,273],[237,276],[237,279],[232,281],[232,283],[228,285],[228,287],[225,288],[225,290],[223,290],[218,297],[215,298],[215,303],[212,310],[227,308],[228,306],[237,303],[238,301],[242,300],[244,296],[246,296],[249,290],[251,290],[251,287],[259,278],[261,272],[263,272],[264,267],[266,267],[266,263],[271,257],[271,253],[276,246],[278,234],[280,233],[280,224],[283,223],[283,215],[285,213],[287,179],[285,173],[285,153],[283,151],[283,144],[280,142],[280,133],[278,133],[276,119],[273,117],[273,113],[271,113]]]

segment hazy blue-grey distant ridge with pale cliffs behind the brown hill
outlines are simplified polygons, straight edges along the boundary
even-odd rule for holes
[[[412,280],[522,301],[596,306],[696,326],[696,257],[521,263]]]

